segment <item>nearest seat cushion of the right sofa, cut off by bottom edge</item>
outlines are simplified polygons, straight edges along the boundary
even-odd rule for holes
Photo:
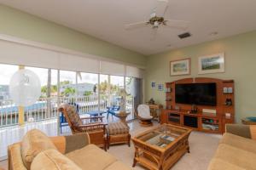
[[[213,158],[207,170],[246,170],[244,167],[236,166],[228,161]]]

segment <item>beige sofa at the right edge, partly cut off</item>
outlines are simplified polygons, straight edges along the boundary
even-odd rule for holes
[[[208,170],[256,169],[256,125],[226,126]]]

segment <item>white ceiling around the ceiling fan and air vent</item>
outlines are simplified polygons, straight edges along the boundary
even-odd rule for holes
[[[141,54],[156,54],[256,30],[256,0],[169,0],[165,18],[190,22],[187,31],[192,37],[183,40],[177,37],[183,31],[176,29],[160,27],[154,40],[150,40],[149,27],[125,30],[125,24],[148,20],[156,0],[0,0],[0,3]],[[210,36],[213,31],[218,31],[218,35]]]

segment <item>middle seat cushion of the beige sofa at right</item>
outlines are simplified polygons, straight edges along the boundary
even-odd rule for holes
[[[256,169],[256,154],[247,150],[219,144],[215,158],[245,169]]]

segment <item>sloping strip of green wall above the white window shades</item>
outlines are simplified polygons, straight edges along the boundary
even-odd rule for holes
[[[146,61],[143,54],[132,52],[4,5],[0,5],[0,34],[43,42],[109,59],[118,59],[135,65],[145,65]]]

